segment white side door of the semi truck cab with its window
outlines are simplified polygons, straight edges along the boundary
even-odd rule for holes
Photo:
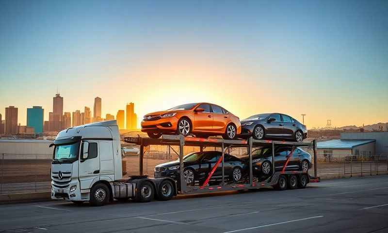
[[[98,143],[97,141],[87,141],[89,144],[88,151],[84,152],[84,144],[81,145],[81,156],[79,166],[79,179],[81,183],[81,189],[90,188],[93,180],[99,180],[100,176],[100,159],[98,156]],[[87,157],[83,158],[83,154],[87,153]],[[86,154],[85,154],[86,156]]]

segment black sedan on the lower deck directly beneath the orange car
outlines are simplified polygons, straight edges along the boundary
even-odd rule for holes
[[[183,178],[188,185],[194,184],[195,181],[203,183],[208,177],[211,168],[217,163],[222,156],[219,151],[192,152],[183,157]],[[225,179],[238,182],[242,180],[244,161],[232,155],[225,154],[224,170]],[[155,166],[155,178],[171,177],[178,181],[179,179],[179,160],[172,161]],[[214,171],[212,180],[222,179],[222,166],[219,165]]]

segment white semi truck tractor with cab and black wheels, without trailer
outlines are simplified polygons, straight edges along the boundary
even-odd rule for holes
[[[177,195],[171,178],[122,180],[122,151],[115,120],[61,131],[53,144],[51,199],[103,205],[113,199],[169,200]]]

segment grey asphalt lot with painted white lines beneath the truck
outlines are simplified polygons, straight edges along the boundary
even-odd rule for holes
[[[374,176],[103,207],[65,201],[0,205],[0,233],[386,233],[387,216],[388,176]]]

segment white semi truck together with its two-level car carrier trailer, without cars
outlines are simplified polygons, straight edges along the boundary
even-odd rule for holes
[[[285,189],[283,184],[288,179],[310,178],[303,171],[275,172],[262,182],[255,182],[252,174],[252,148],[262,146],[309,146],[314,149],[314,172],[316,176],[317,159],[316,144],[279,142],[267,140],[223,140],[184,137],[182,135],[162,135],[160,139],[146,137],[125,137],[127,143],[140,145],[139,176],[129,179],[122,177],[122,150],[120,134],[115,120],[86,124],[61,131],[54,143],[51,164],[51,199],[70,200],[74,203],[89,201],[91,205],[103,205],[115,200],[137,200],[148,202],[152,199],[170,200],[178,194],[194,194],[213,191],[256,189],[261,187],[278,187]],[[194,146],[203,150],[206,147],[222,149],[222,156],[212,167],[205,183],[189,186],[183,181],[183,172],[179,172],[178,182],[170,177],[148,178],[143,173],[144,147],[149,145],[168,145],[179,147],[180,171],[183,171],[183,147]],[[228,148],[242,147],[248,150],[249,176],[246,182],[226,183],[224,177],[224,154]],[[273,150],[273,161],[275,161]],[[223,169],[222,183],[209,185],[214,170],[221,164]],[[274,166],[274,163],[273,163]],[[298,181],[298,180],[296,180]]]

